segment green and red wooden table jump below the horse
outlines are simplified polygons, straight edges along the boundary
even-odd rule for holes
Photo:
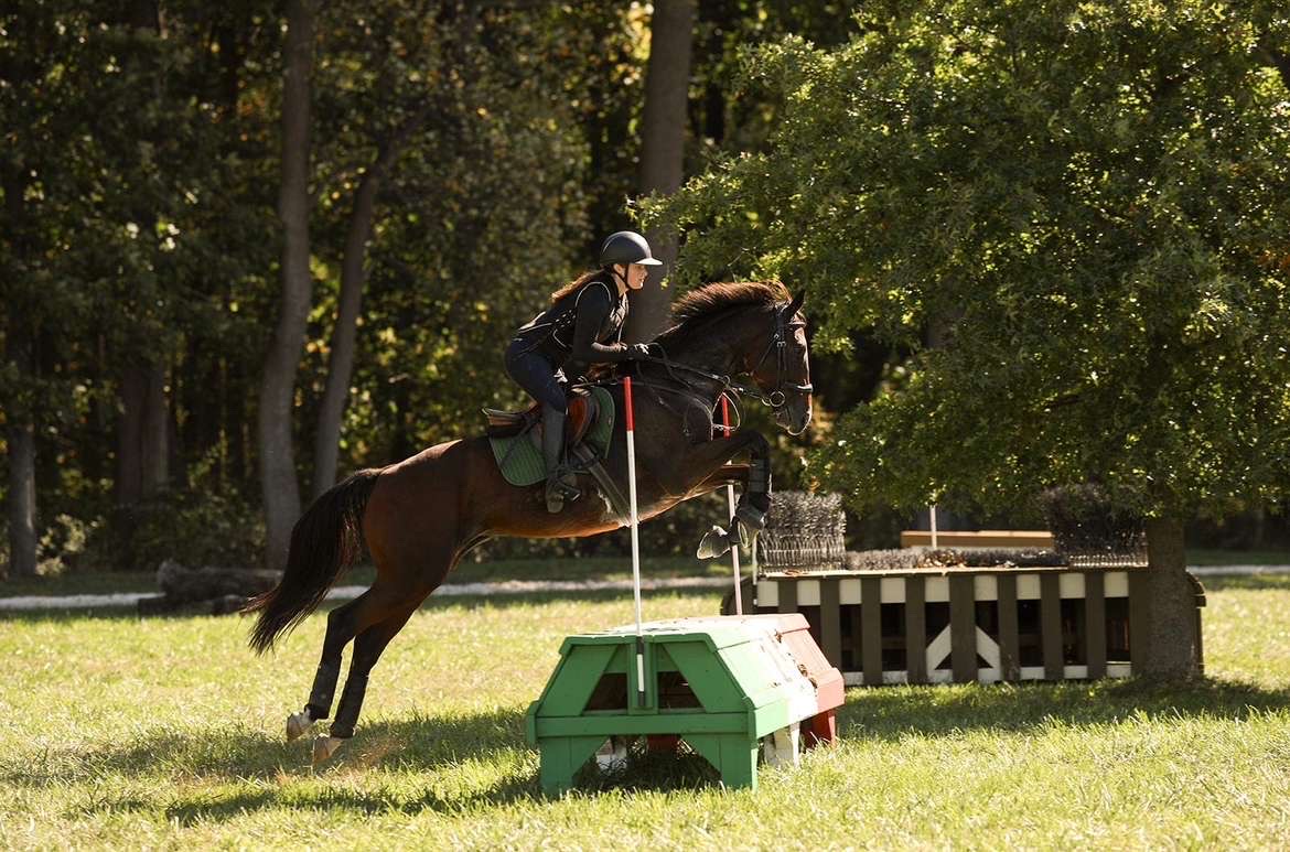
[[[644,652],[644,683],[637,650]],[[832,741],[842,675],[799,614],[675,619],[571,635],[526,714],[542,789],[559,794],[606,740],[684,740],[729,788],[756,788],[757,757],[796,764]]]

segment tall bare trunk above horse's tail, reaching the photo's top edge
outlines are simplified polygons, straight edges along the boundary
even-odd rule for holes
[[[310,76],[313,70],[313,3],[286,3],[286,57],[283,71],[283,300],[264,358],[259,393],[259,463],[271,568],[286,565],[292,527],[301,514],[292,425],[295,373],[304,348],[312,281],[310,277]]]

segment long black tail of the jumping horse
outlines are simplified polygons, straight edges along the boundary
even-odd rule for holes
[[[359,470],[333,486],[306,509],[292,530],[283,580],[246,602],[243,612],[259,612],[250,647],[263,654],[283,633],[317,608],[326,590],[362,552],[362,514],[381,476]]]

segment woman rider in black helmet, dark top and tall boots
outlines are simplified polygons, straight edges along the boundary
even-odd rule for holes
[[[660,266],[649,242],[633,231],[610,235],[600,247],[600,269],[587,272],[551,294],[551,307],[515,333],[506,351],[506,371],[542,403],[542,458],[547,468],[548,512],[560,512],[579,496],[573,473],[562,464],[565,376],[580,376],[593,363],[649,357],[649,345],[622,343],[627,291],[645,286],[648,267]],[[613,343],[608,343],[613,340]]]

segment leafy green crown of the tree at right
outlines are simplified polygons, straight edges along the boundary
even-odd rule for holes
[[[752,49],[783,113],[650,223],[913,354],[813,458],[858,510],[1104,482],[1222,514],[1290,482],[1290,124],[1272,5],[937,1]],[[1290,68],[1290,64],[1282,64]],[[769,97],[769,95],[766,95]],[[925,345],[931,342],[935,345]]]

